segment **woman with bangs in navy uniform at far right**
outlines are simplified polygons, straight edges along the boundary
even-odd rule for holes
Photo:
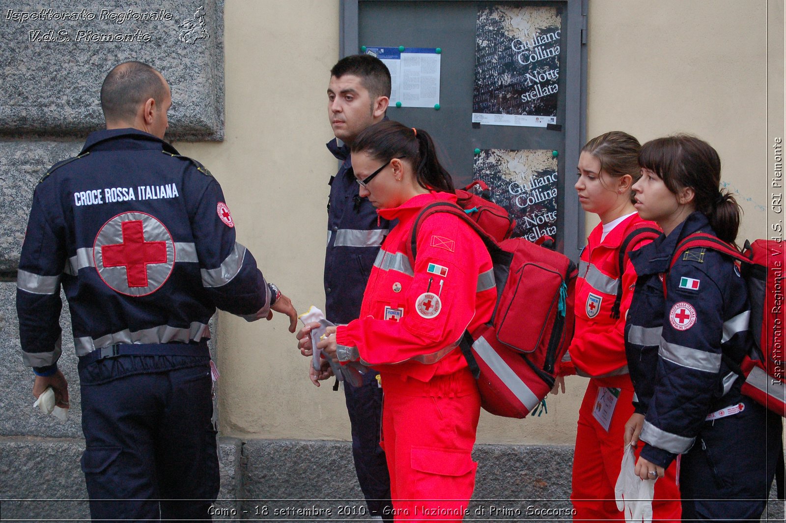
[[[780,455],[781,419],[740,393],[753,340],[750,304],[734,260],[689,249],[689,234],[733,244],[740,208],[720,190],[721,160],[688,135],[658,138],[639,153],[635,207],[663,236],[630,255],[639,277],[625,328],[635,414],[626,440],[643,442],[642,480],[678,462],[682,521],[758,521]],[[752,320],[752,319],[751,319]]]

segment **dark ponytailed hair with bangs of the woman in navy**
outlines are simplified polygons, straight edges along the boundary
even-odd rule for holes
[[[639,164],[674,194],[690,187],[696,211],[707,216],[718,238],[734,244],[742,209],[728,190],[720,190],[721,159],[710,144],[689,134],[656,138],[641,146]]]

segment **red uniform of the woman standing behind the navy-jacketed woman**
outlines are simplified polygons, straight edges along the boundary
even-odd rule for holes
[[[625,423],[634,413],[634,388],[628,374],[624,333],[637,275],[633,264],[626,261],[620,276],[619,249],[627,235],[640,227],[658,226],[634,213],[601,241],[603,224],[598,224],[589,234],[579,262],[575,333],[568,349],[571,363],[563,365],[568,369],[567,374],[572,374],[570,369],[574,366],[575,373],[590,378],[578,411],[573,458],[571,500],[576,510],[575,521],[625,519],[623,512],[617,510],[614,487],[623,459]],[[628,249],[637,249],[648,242],[634,240]],[[623,297],[619,318],[615,319],[612,305],[620,278]],[[676,466],[670,466],[666,476],[656,481],[653,521],[680,521],[675,470]]]

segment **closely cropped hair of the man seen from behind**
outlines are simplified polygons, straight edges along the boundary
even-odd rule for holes
[[[112,68],[101,84],[101,110],[105,120],[132,120],[145,100],[163,103],[166,95],[160,72],[148,64],[127,61]]]

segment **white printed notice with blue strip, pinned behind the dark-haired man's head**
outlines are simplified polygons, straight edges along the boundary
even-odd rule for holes
[[[441,54],[436,48],[366,47],[366,54],[379,58],[391,72],[391,107],[431,107],[439,104]]]

